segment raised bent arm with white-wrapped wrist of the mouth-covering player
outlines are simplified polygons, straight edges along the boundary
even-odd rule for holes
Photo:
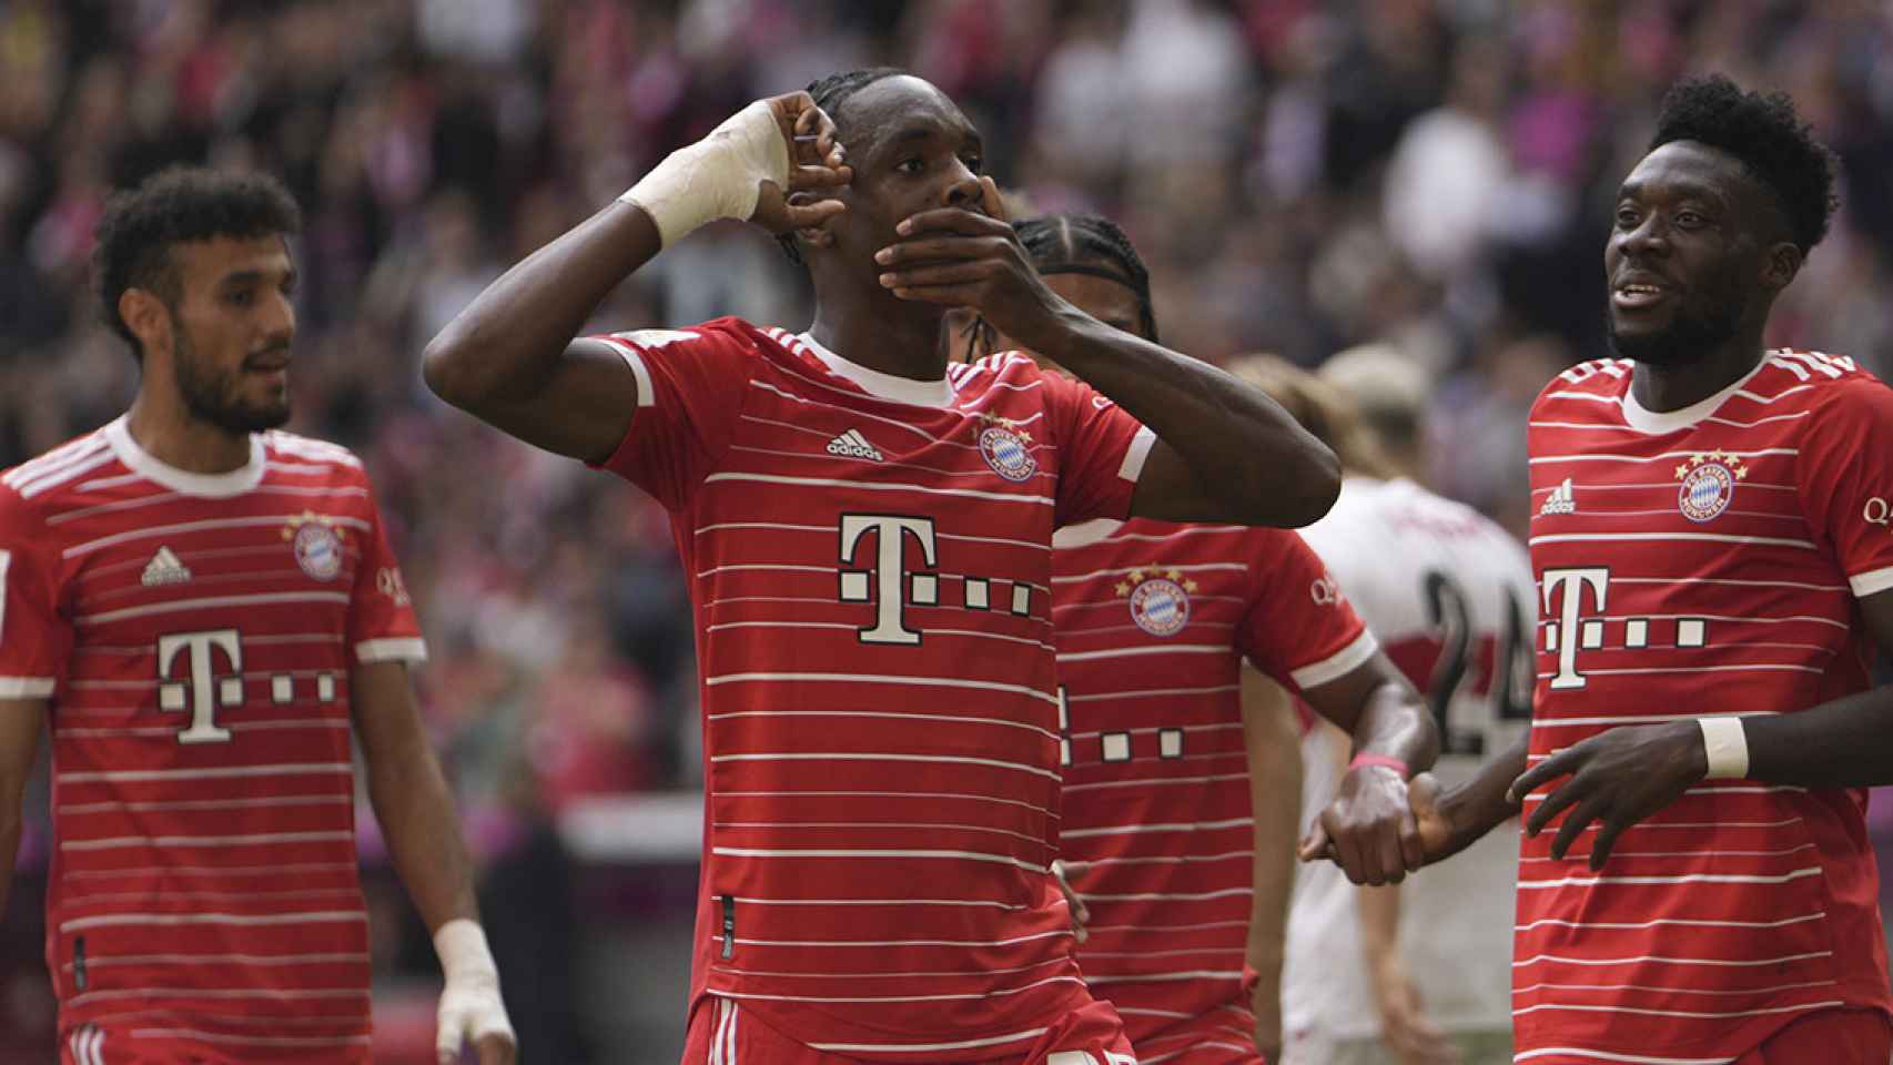
[[[797,132],[814,140],[797,146]],[[791,148],[799,161],[823,165],[789,166]],[[530,445],[602,462],[638,409],[638,382],[625,361],[606,344],[575,340],[604,297],[664,246],[717,218],[752,219],[774,233],[818,225],[842,204],[789,206],[784,197],[842,182],[835,127],[806,93],[752,104],[672,153],[627,199],[487,286],[428,342],[428,388]]]

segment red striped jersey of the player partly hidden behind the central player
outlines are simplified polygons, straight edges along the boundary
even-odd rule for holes
[[[1289,530],[1060,530],[1060,851],[1090,910],[1079,961],[1141,1061],[1253,1061],[1244,953],[1255,821],[1242,660],[1300,690],[1376,649]]]

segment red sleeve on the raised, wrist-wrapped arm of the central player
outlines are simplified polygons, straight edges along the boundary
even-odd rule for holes
[[[681,511],[729,450],[755,371],[755,339],[733,318],[593,339],[638,378],[630,429],[600,467]]]

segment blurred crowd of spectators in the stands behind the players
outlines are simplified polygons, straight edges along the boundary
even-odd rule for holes
[[[1774,342],[1893,369],[1893,13],[1876,0],[0,0],[0,465],[112,418],[136,367],[87,303],[114,187],[261,166],[307,212],[293,429],[369,463],[464,798],[558,812],[697,774],[664,515],[420,384],[511,261],[744,102],[892,62],[1000,182],[1138,240],[1164,339],[1314,365],[1397,344],[1435,486],[1524,526],[1524,412],[1605,354],[1601,242],[1662,89],[1793,93],[1844,159]],[[806,280],[712,227],[600,327],[801,327]]]

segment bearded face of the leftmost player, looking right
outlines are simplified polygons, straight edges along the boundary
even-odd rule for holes
[[[280,236],[193,240],[170,250],[172,376],[186,409],[233,433],[290,420],[295,267]]]

